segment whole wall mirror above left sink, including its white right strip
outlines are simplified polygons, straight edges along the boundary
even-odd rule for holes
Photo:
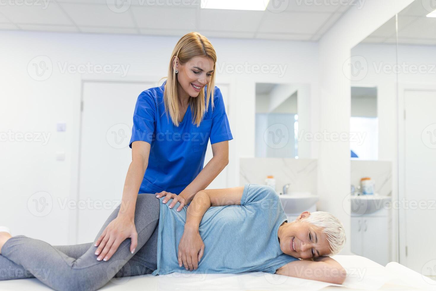
[[[256,83],[255,157],[309,157],[310,90],[305,84]]]

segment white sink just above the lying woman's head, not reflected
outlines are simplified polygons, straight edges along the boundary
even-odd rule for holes
[[[304,211],[314,211],[319,196],[311,195],[309,192],[289,192],[279,195],[286,215],[300,215]]]

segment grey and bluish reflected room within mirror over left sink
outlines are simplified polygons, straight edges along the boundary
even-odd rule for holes
[[[256,83],[256,157],[298,158],[298,91],[290,84]]]

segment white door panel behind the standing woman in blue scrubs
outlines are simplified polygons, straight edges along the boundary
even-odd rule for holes
[[[157,84],[139,82],[84,82],[77,243],[92,242],[121,202],[132,160],[129,141],[136,99],[140,92],[155,86]],[[228,85],[217,86],[227,110]],[[204,164],[211,158],[209,141]],[[208,188],[227,187],[227,168]]]

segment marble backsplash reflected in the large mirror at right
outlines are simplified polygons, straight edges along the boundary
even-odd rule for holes
[[[357,188],[363,177],[375,181],[375,193],[381,196],[392,195],[391,161],[351,161],[351,185]]]

